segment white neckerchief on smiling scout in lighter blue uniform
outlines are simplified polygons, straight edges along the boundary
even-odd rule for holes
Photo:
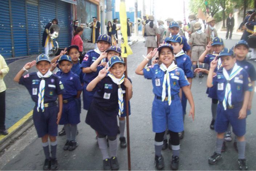
[[[174,61],[172,64],[167,68],[166,65],[161,64],[160,69],[164,72],[164,78],[163,78],[163,90],[162,90],[162,102],[164,101],[166,97],[166,82],[167,82],[167,90],[168,90],[168,105],[171,105],[171,85],[170,85],[170,74],[169,72],[175,70],[177,65],[175,65]]]

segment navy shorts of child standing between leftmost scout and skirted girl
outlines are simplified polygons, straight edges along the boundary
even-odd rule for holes
[[[60,125],[80,123],[80,113],[78,111],[78,99],[73,98],[68,103],[63,103]]]

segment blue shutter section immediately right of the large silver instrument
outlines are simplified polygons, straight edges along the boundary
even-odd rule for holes
[[[57,19],[60,32],[57,41],[61,48],[68,47],[71,44],[72,24],[70,22],[70,16],[70,4],[64,1],[58,1]]]

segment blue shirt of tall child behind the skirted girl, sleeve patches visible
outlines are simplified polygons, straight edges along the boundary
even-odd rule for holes
[[[87,68],[90,67],[94,61],[97,60],[100,54],[95,52],[94,50],[89,50],[82,61],[81,68]],[[84,81],[86,84],[89,84],[95,77],[98,76],[97,72],[91,72],[84,74]]]

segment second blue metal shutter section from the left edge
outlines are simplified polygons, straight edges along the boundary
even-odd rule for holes
[[[15,57],[27,56],[25,0],[11,0]]]

